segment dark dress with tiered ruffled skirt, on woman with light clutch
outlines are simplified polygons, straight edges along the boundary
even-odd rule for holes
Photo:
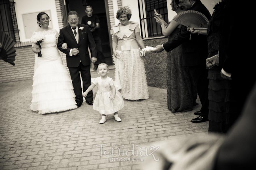
[[[208,58],[218,53],[220,24],[223,5],[216,5],[207,29]],[[208,71],[209,132],[226,133],[236,120],[236,103],[232,91],[232,81],[222,79],[221,66]]]

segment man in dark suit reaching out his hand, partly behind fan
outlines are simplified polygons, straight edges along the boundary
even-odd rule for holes
[[[179,5],[185,10],[194,10],[203,13],[210,19],[210,12],[200,0],[179,0]],[[195,112],[200,116],[192,119],[193,123],[208,120],[208,79],[205,59],[208,56],[207,37],[205,35],[190,34],[186,26],[182,26],[179,33],[163,45],[156,46],[152,52],[171,51],[182,44],[182,65],[189,67],[189,72],[197,85],[197,92],[202,104],[201,110]]]

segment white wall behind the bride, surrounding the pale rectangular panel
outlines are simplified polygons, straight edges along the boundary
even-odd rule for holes
[[[25,28],[22,19],[22,14],[33,13],[33,12],[42,12],[42,11],[51,11],[51,22],[53,28],[59,30],[57,12],[55,7],[55,0],[14,0],[15,1],[15,12],[18,23],[20,41],[30,41],[30,39],[26,39],[25,37]],[[36,18],[34,20],[36,23]],[[36,27],[35,27],[36,30]]]

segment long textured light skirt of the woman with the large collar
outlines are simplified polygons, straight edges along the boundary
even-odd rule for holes
[[[115,81],[121,87],[121,94],[127,100],[148,99],[148,85],[144,62],[138,49],[117,50],[120,58],[113,56],[115,63]]]

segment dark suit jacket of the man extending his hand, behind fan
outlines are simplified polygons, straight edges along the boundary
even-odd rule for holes
[[[196,1],[189,10],[199,11],[210,20],[210,12],[201,1]],[[187,27],[182,26],[174,38],[163,44],[164,49],[169,52],[182,44],[181,54],[183,66],[205,65],[205,59],[208,56],[207,37],[197,34],[191,34],[191,40],[189,40],[189,37],[190,33],[187,31]]]

